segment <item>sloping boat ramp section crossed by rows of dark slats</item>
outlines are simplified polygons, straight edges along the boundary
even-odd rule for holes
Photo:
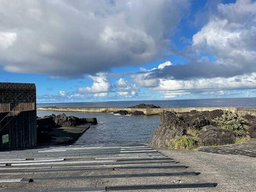
[[[67,145],[0,152],[3,191],[179,191],[215,187],[193,167],[144,144]]]

